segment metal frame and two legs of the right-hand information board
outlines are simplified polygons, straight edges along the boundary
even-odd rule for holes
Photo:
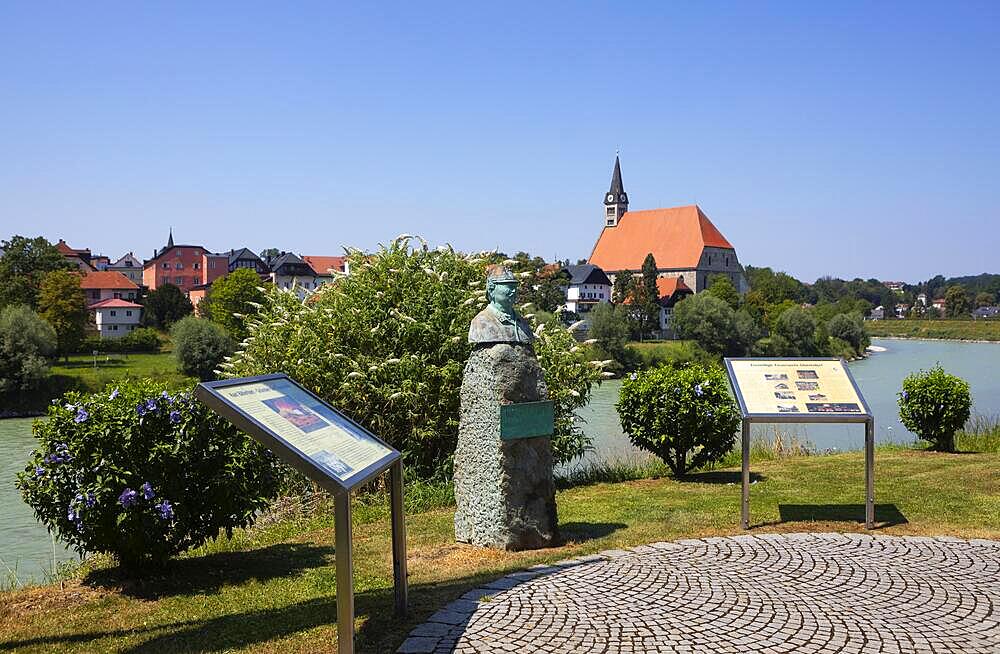
[[[743,500],[740,507],[740,524],[744,529],[750,528],[750,425],[755,423],[853,423],[864,424],[865,426],[865,528],[875,527],[875,416],[872,414],[858,388],[854,376],[847,368],[847,362],[839,357],[739,357],[724,359],[726,373],[729,375],[729,383],[733,387],[733,395],[740,406],[740,413],[743,416]],[[837,414],[806,414],[806,413],[750,413],[747,410],[746,401],[743,399],[743,391],[736,380],[736,372],[733,370],[733,361],[839,361],[844,368],[844,374],[854,388],[858,400],[861,402],[862,413],[837,413]]]

